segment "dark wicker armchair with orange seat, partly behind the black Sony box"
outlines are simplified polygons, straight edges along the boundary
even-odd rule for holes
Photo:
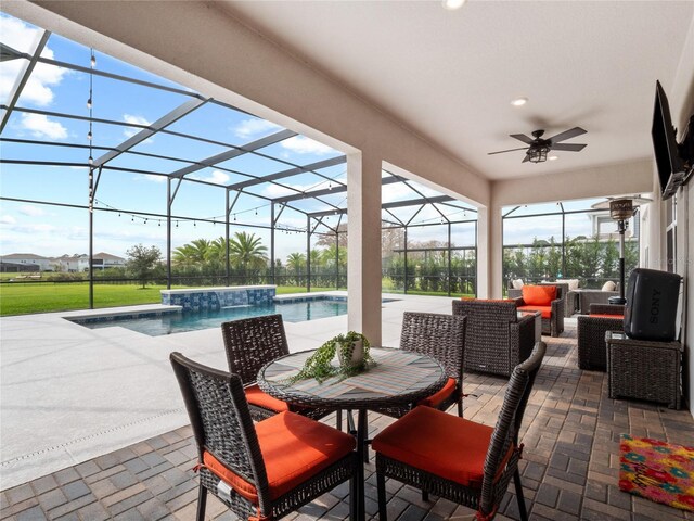
[[[607,370],[605,333],[624,331],[625,306],[591,304],[590,315],[580,315],[578,327],[578,367],[592,371]]]

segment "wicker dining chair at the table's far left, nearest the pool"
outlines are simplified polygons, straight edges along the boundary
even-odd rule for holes
[[[267,315],[223,322],[221,333],[224,340],[229,371],[241,378],[254,420],[261,421],[285,410],[293,410],[313,419],[320,419],[331,412],[309,407],[295,409],[290,404],[264,393],[258,387],[256,380],[262,366],[290,354],[282,315]]]

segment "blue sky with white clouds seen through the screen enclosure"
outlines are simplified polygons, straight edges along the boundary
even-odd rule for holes
[[[17,51],[31,53],[36,49],[42,29],[18,18],[0,13],[0,40]],[[60,35],[51,35],[41,55],[62,62],[90,67],[91,50],[67,40]],[[172,84],[164,78],[133,67],[127,63],[107,56],[94,50],[95,69],[133,77],[140,80],[164,85],[181,92],[169,92],[150,87],[119,81],[89,73],[76,72],[51,64],[37,64],[16,104],[20,109],[89,116],[87,100],[92,100],[92,116],[95,118],[123,122],[134,126],[119,126],[94,123],[91,127],[93,147],[116,147],[134,136],[140,128],[137,125],[151,125],[171,110],[191,99],[192,92],[185,86]],[[26,67],[27,60],[12,60],[0,63],[0,100],[7,104],[13,85]],[[91,77],[90,77],[91,76]],[[201,93],[204,96],[204,93]],[[249,114],[205,103],[185,117],[167,127],[175,132],[190,134],[201,138],[243,145],[257,139],[283,130],[282,127]],[[36,114],[15,110],[2,132],[5,139],[39,140],[54,143],[74,143],[88,145],[89,123],[86,120]],[[70,165],[20,165],[0,164],[0,195],[2,198],[25,201],[0,200],[0,255],[10,253],[35,253],[43,256],[87,253],[89,250],[89,214],[83,208],[39,204],[37,202],[57,202],[65,205],[83,206],[88,201],[88,157],[89,149],[44,147],[25,143],[2,142],[0,156],[4,160],[42,161],[70,163]],[[228,151],[228,147],[216,143],[193,141],[170,134],[156,134],[136,145],[132,151],[145,154],[159,154],[176,158],[201,161]],[[94,158],[105,151],[92,150]],[[172,223],[171,242],[176,249],[194,239],[215,239],[224,234],[221,224],[224,217],[226,190],[223,186],[249,179],[250,176],[266,176],[284,171],[293,165],[309,165],[319,161],[342,155],[318,141],[305,136],[294,136],[279,143],[259,149],[262,155],[243,154],[220,163],[217,167],[207,167],[188,176],[205,180],[218,187],[183,182],[172,204],[172,214],[178,218]],[[189,163],[147,157],[134,154],[121,154],[107,163],[111,167],[129,168],[160,174],[170,174]],[[223,168],[223,169],[222,169]],[[229,171],[233,170],[233,171]],[[293,177],[294,189],[324,189],[346,183],[346,165],[339,164],[323,168],[325,178],[312,173]],[[244,175],[247,174],[247,175]],[[384,174],[386,176],[387,174]],[[421,196],[439,195],[436,190],[410,181],[383,187],[382,201],[401,201]],[[296,193],[284,187],[265,182],[244,190],[234,204],[231,214],[231,233],[249,231],[260,236],[269,247],[270,232],[266,229],[250,229],[240,224],[269,226],[270,204],[253,194],[278,198]],[[323,200],[336,206],[346,205],[346,192],[325,195]],[[28,202],[30,201],[30,202]],[[99,179],[95,192],[95,208],[111,208],[117,212],[94,212],[94,252],[106,252],[125,256],[134,244],[156,245],[166,252],[166,221],[160,217],[143,214],[166,214],[167,183],[163,176],[145,175],[123,170],[104,170]],[[299,200],[292,203],[305,212],[319,212],[330,206],[320,201]],[[457,203],[463,206],[462,203]],[[590,202],[580,203],[589,207]],[[412,224],[440,223],[440,214],[427,205],[415,215],[417,207],[393,211],[401,220],[412,218]],[[450,220],[475,218],[474,212],[450,208],[442,205],[438,209],[447,214]],[[384,218],[391,217],[384,213]],[[207,219],[215,223],[206,223]],[[509,240],[531,242],[534,237],[555,234],[556,225],[552,219],[532,219],[525,226],[514,224]],[[345,223],[339,216],[324,219],[330,227]],[[590,221],[576,219],[569,234],[589,234]],[[516,221],[520,223],[520,221]],[[275,256],[284,259],[292,252],[306,251],[306,234],[295,230],[306,228],[306,216],[285,208],[278,221],[282,229],[275,236]],[[457,245],[472,245],[475,241],[474,227],[457,225],[453,227],[453,242]],[[318,231],[327,231],[319,227]],[[510,232],[510,231],[509,231]],[[567,231],[568,233],[568,231]],[[445,226],[411,228],[411,241],[446,241]],[[314,238],[316,240],[316,238]]]

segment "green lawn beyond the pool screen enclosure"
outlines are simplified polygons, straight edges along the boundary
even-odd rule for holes
[[[16,275],[16,274],[12,274]],[[182,287],[174,287],[182,288]],[[94,307],[158,304],[159,290],[165,285],[94,284]],[[311,288],[311,291],[330,291],[333,288]],[[278,294],[303,293],[306,288],[278,287]],[[89,285],[86,283],[4,283],[0,285],[0,316],[30,313],[65,312],[89,308]]]

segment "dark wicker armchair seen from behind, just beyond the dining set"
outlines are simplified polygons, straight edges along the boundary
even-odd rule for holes
[[[455,300],[453,315],[467,317],[466,371],[509,377],[535,345],[535,317],[518,318],[513,301]]]

